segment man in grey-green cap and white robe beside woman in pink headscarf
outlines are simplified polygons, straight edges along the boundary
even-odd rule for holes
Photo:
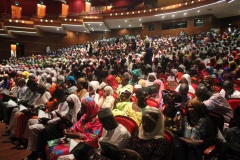
[[[107,142],[116,146],[119,150],[125,149],[131,134],[128,130],[121,124],[119,124],[113,117],[110,108],[104,108],[98,112],[98,119],[103,126],[102,136],[99,138],[99,142]],[[100,144],[101,150],[101,144]],[[107,156],[107,153],[104,155]],[[73,154],[60,156],[58,160],[66,159],[80,159],[81,157],[74,157]]]

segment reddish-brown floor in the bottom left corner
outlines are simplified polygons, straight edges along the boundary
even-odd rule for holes
[[[2,143],[8,136],[2,136],[5,131],[5,124],[0,123],[0,160],[22,160],[31,152],[27,150],[16,150],[11,143]]]

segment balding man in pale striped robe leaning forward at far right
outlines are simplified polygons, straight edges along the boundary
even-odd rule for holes
[[[232,108],[228,101],[219,93],[212,93],[204,84],[199,84],[196,89],[196,96],[206,105],[208,110],[222,114],[225,123],[230,122],[230,119],[233,117]]]

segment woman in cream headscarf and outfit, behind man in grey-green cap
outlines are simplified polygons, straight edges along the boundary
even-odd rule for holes
[[[113,109],[114,107],[114,97],[113,97],[113,89],[111,86],[106,86],[103,89],[103,95],[98,101],[98,105],[101,109],[103,108],[111,108]]]

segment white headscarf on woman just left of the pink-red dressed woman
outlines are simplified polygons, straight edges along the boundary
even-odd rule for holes
[[[72,122],[75,123],[77,121],[77,114],[81,108],[81,102],[75,94],[69,95],[67,97],[67,101],[74,103],[74,107],[72,109]]]

